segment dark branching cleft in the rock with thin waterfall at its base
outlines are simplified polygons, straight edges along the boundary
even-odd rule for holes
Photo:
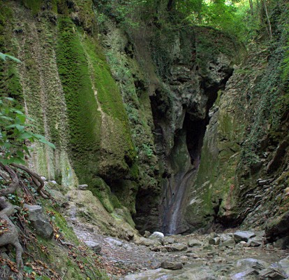
[[[218,69],[218,68],[217,68]],[[215,69],[213,69],[214,71]],[[218,90],[224,89],[232,71],[221,71],[223,78],[218,83],[200,83],[202,101],[191,108],[182,105],[183,121],[181,129],[175,130],[174,146],[168,153],[166,148],[164,116],[158,111],[159,104],[152,99],[155,126],[158,127],[155,137],[158,157],[166,168],[163,180],[163,195],[161,197],[161,230],[166,235],[174,235],[188,231],[184,214],[188,205],[195,176],[200,166],[202,142],[209,124],[209,110],[214,106]],[[155,103],[154,103],[155,102]],[[197,109],[198,108],[198,109]],[[203,113],[200,113],[203,112]]]

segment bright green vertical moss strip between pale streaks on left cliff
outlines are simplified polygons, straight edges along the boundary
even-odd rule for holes
[[[68,108],[68,126],[73,165],[80,181],[98,170],[101,115],[92,90],[87,57],[75,25],[59,17],[57,66]]]

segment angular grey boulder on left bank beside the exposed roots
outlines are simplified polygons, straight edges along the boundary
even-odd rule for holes
[[[24,208],[28,209],[28,220],[31,222],[31,226],[37,234],[45,239],[52,239],[53,228],[52,225],[50,225],[47,216],[43,214],[42,207],[39,205],[24,204]]]

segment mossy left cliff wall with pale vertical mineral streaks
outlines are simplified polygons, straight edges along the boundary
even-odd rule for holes
[[[22,61],[1,65],[1,90],[17,98],[35,120],[35,132],[57,146],[32,144],[31,168],[70,188],[87,183],[109,212],[122,209],[122,200],[134,213],[135,147],[96,38],[92,2],[9,1],[1,7],[3,51]],[[124,181],[118,186],[117,180]]]

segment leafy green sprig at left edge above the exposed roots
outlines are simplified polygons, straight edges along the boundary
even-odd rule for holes
[[[29,130],[34,127],[27,123],[33,122],[22,111],[13,107],[15,100],[10,97],[0,97],[0,162],[4,165],[10,163],[24,163],[24,155],[29,155],[26,143],[40,141],[51,148],[53,144],[45,140],[45,137]]]

